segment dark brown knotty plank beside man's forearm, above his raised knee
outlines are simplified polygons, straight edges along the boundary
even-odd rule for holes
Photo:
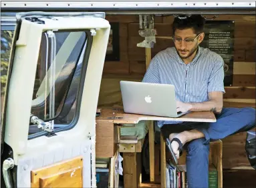
[[[256,96],[255,87],[225,87],[224,99],[253,99]]]

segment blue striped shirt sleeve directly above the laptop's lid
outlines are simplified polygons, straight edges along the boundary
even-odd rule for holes
[[[144,78],[142,79],[142,82],[146,83],[160,83],[160,75],[159,75],[159,69],[158,69],[158,60],[156,57],[154,57],[148,66],[148,69],[146,70],[146,74],[144,75]]]

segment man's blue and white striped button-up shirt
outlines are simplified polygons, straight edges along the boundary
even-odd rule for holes
[[[225,93],[223,65],[220,55],[203,47],[186,65],[176,49],[169,47],[152,59],[142,82],[174,85],[176,100],[184,103],[209,101],[208,92]],[[175,123],[182,122],[158,121],[158,126]]]

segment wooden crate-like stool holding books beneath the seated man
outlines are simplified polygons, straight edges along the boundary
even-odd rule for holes
[[[166,143],[164,137],[160,139],[160,163],[161,163],[161,187],[166,187]],[[222,141],[210,142],[209,164],[213,164],[218,171],[218,187],[223,187],[223,171],[222,171]],[[186,164],[186,151],[183,151],[182,156],[178,159],[180,165]]]

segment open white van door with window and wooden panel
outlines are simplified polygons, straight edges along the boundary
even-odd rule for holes
[[[110,34],[104,18],[17,14],[1,121],[6,187],[96,187],[96,109]]]

